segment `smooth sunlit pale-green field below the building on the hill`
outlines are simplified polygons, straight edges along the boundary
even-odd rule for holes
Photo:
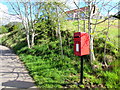
[[[97,22],[103,21],[103,19],[97,20]],[[109,25],[108,25],[109,22]],[[119,20],[113,19],[113,20],[107,20],[103,23],[100,23],[98,25],[92,25],[93,33],[92,35],[97,36],[99,33],[102,35],[106,35],[108,39],[110,39],[111,42],[113,42],[116,47],[118,47],[118,36],[120,33],[118,33],[118,22]],[[96,20],[92,20],[92,23],[96,23]],[[84,30],[84,20],[80,20],[80,32],[88,32],[88,21],[85,21],[85,30]],[[63,22],[62,30],[68,30],[71,32],[78,32],[78,21],[66,21]],[[108,35],[106,34],[108,32]]]

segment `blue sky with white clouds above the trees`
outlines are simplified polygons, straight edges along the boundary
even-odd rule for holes
[[[27,1],[27,0],[24,0]],[[44,0],[32,0],[32,1],[44,1]],[[55,1],[55,0],[50,0],[50,1]],[[73,3],[73,1],[75,1],[79,7],[84,7],[85,3],[83,2],[83,0],[57,0],[57,1],[62,1],[62,2],[67,2],[66,4],[70,7],[70,9],[76,9],[76,5]],[[87,1],[87,0],[86,0]],[[91,0],[91,1],[95,1],[95,0]],[[119,0],[96,0],[97,2],[99,2],[97,4],[97,7],[101,10],[101,14],[106,16],[107,15],[107,11],[108,9],[110,9],[112,6],[115,6],[117,2],[119,2]],[[109,1],[111,1],[107,6],[101,7],[102,5],[102,1],[104,1],[104,3],[107,3]],[[15,2],[15,0],[9,0],[9,2]],[[6,12],[6,13],[4,13]],[[118,12],[118,8],[113,9],[109,14],[113,15],[115,13]],[[13,10],[11,9],[11,6],[8,3],[8,0],[0,0],[0,25],[1,24],[6,24],[12,21],[21,21],[20,19],[18,19],[17,15],[9,15],[10,14],[15,14],[13,12]]]

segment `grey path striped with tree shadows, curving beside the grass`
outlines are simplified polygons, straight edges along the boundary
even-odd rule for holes
[[[0,45],[0,82],[1,88],[36,88],[22,62],[12,51]]]

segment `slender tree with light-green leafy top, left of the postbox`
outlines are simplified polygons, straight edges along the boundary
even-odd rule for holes
[[[47,16],[47,19],[52,21],[56,25],[56,37],[60,41],[61,55],[63,56],[62,36],[61,36],[61,22],[64,18],[65,4],[54,1],[45,2],[43,7],[43,16]]]

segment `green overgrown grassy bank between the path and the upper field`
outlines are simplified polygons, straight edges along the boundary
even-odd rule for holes
[[[84,57],[84,84],[77,86],[80,80],[80,57],[73,54],[73,32],[77,21],[66,21],[62,27],[64,57],[61,56],[59,38],[36,38],[36,45],[29,49],[22,30],[13,30],[1,40],[3,45],[11,47],[24,62],[30,75],[40,88],[119,88],[120,66],[116,44],[107,43],[106,61],[103,65],[105,35],[96,33],[94,51],[96,61],[89,63],[89,56]],[[116,24],[116,23],[115,23]],[[98,30],[103,25],[97,27]],[[117,30],[111,27],[111,30]],[[103,33],[103,32],[102,32]],[[109,32],[112,34],[112,31]],[[117,32],[110,35],[116,36]],[[45,36],[46,37],[46,36]],[[114,38],[113,38],[114,39]],[[116,42],[116,41],[115,41]]]

